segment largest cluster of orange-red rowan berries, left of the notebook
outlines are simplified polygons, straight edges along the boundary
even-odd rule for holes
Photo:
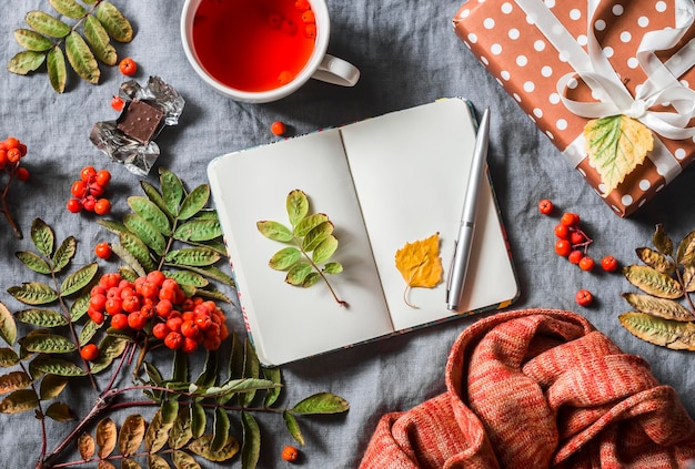
[[[177,281],[153,271],[135,282],[120,274],[101,276],[90,294],[89,317],[113,329],[145,332],[172,350],[216,350],[229,336],[225,317],[212,300],[187,297]]]

